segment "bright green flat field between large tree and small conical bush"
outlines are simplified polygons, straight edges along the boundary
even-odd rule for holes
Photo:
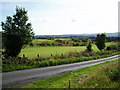
[[[27,46],[25,49],[22,49],[20,56],[23,54],[26,55],[26,57],[29,58],[36,58],[37,54],[39,54],[42,57],[53,55],[58,55],[61,53],[68,53],[70,51],[84,51],[86,48],[84,46],[79,47],[63,47],[63,46],[46,46],[46,47],[30,47]]]

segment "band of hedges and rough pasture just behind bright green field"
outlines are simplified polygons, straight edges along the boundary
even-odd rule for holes
[[[39,40],[41,40],[39,42]],[[69,38],[57,38],[57,39],[38,39],[38,42],[36,42],[38,46],[86,46],[86,41],[74,41]]]

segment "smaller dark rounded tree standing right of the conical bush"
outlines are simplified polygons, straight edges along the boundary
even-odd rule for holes
[[[97,35],[96,46],[100,51],[102,51],[106,47],[105,41],[106,41],[106,34],[98,34]]]

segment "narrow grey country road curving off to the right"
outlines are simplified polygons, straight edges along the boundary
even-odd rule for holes
[[[119,55],[98,60],[90,60],[73,64],[58,65],[30,70],[20,70],[2,73],[2,88],[18,88],[36,80],[46,79],[66,72],[81,69],[87,66],[99,64],[108,60],[118,59]]]

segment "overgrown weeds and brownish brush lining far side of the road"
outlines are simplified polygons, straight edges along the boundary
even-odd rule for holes
[[[95,60],[100,58],[105,58],[113,55],[117,55],[120,52],[116,51],[104,51],[104,52],[72,52],[71,56],[55,56],[55,58],[37,58],[37,59],[28,59],[26,57],[23,58],[9,58],[3,59],[3,72],[10,72],[16,70],[24,70],[31,68],[40,68],[40,67],[48,67],[62,64],[70,64],[76,62],[83,62],[88,60]]]

